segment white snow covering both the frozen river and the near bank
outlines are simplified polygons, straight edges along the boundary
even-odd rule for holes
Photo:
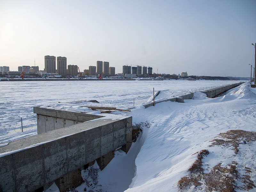
[[[104,170],[98,172],[98,187],[94,188],[94,191],[178,191],[178,181],[189,174],[188,169],[195,162],[196,154],[204,149],[210,152],[203,159],[205,173],[210,172],[219,162],[225,166],[231,161],[236,161],[238,172],[244,172],[243,166],[251,169],[251,180],[256,185],[255,141],[246,144],[241,142],[239,152],[235,156],[230,148],[209,147],[211,141],[220,133],[230,130],[255,132],[256,89],[250,88],[248,83],[214,99],[207,98],[201,92],[195,92],[194,98],[184,100],[184,103],[167,101],[146,109],[141,104],[133,106],[134,98],[139,98],[141,103],[147,102],[153,94],[153,87],[155,91],[163,91],[157,98],[163,99],[163,97],[170,98],[173,95],[188,93],[200,87],[236,82],[47,82],[48,84],[36,82],[32,85],[2,82],[1,90],[5,86],[7,92],[0,100],[1,107],[3,106],[0,111],[0,123],[1,126],[5,125],[10,121],[10,116],[18,117],[25,114],[28,119],[33,119],[35,116],[31,109],[33,106],[50,105],[58,101],[97,100],[100,104],[93,103],[93,105],[131,108],[131,112],[115,113],[132,116],[133,123],[147,121],[150,126],[143,128],[142,134],[137,142],[132,144],[128,154],[116,151],[115,158]],[[27,94],[20,97],[15,86],[23,87]],[[66,106],[69,110],[71,108],[69,104],[60,106]],[[78,107],[72,109],[84,110]],[[23,135],[26,134],[23,132]],[[31,134],[31,131],[28,134]],[[0,143],[6,143],[12,138],[19,137],[18,135],[15,133],[13,137],[7,139],[6,135],[0,135]],[[93,168],[97,169],[97,165]],[[86,177],[86,172],[83,174]],[[92,189],[84,183],[76,190],[80,192],[85,187],[87,191]],[[204,188],[192,187],[190,191],[204,191]],[[250,191],[255,191],[255,188]]]

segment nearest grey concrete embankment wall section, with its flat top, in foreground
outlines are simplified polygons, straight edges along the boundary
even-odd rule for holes
[[[97,119],[0,147],[0,191],[33,191],[132,142],[132,117]],[[127,152],[126,151],[126,152]]]

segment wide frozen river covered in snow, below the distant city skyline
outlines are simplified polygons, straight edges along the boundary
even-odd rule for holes
[[[145,103],[155,91],[173,96],[240,81],[29,81],[0,82],[0,135],[36,128],[34,106],[57,102],[97,100],[97,106],[127,109]],[[207,88],[206,88],[207,87]],[[14,131],[13,131],[14,130]],[[36,129],[35,131],[36,132]]]

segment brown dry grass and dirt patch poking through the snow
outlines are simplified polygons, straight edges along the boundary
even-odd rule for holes
[[[216,139],[212,140],[212,144],[209,147],[220,146],[222,148],[231,148],[237,155],[241,141],[243,141],[244,144],[246,142],[251,143],[256,141],[256,132],[231,130],[220,133]],[[236,169],[238,164],[235,161],[227,166],[221,166],[221,163],[218,163],[212,167],[210,172],[204,173],[203,159],[208,154],[209,151],[206,149],[198,153],[196,161],[188,169],[189,174],[178,181],[180,191],[187,191],[192,186],[196,186],[199,190],[204,189],[205,192],[233,192],[235,189],[249,190],[255,188],[250,178],[251,169],[244,167],[245,174],[240,175]],[[240,184],[238,186],[237,181],[242,183],[242,185]]]

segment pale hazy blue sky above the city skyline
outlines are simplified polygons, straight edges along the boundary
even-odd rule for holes
[[[0,0],[0,66],[44,69],[67,57],[81,71],[97,60],[153,72],[250,76],[255,0]],[[254,65],[254,63],[253,63]]]

